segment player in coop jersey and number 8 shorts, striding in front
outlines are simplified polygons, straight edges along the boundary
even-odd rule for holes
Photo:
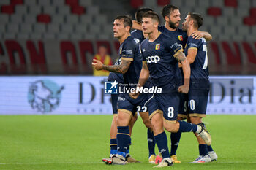
[[[140,46],[143,53],[141,70],[143,73],[140,74],[138,88],[144,85],[149,74],[153,86],[162,88],[162,93],[154,93],[150,98],[148,112],[155,141],[163,158],[157,167],[164,167],[173,165],[164,128],[174,133],[196,132],[207,144],[211,144],[211,136],[202,125],[176,121],[179,106],[178,92],[188,93],[189,91],[190,67],[181,46],[158,31],[158,25],[159,16],[156,12],[146,12],[143,15],[143,34],[148,34],[148,39],[145,39]],[[184,85],[181,85],[178,62],[181,63],[184,72]],[[137,98],[138,95],[138,91],[130,94],[132,98]]]

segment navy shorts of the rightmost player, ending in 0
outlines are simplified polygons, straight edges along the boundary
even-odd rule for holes
[[[187,95],[181,95],[178,117],[206,117],[209,90],[189,89]]]

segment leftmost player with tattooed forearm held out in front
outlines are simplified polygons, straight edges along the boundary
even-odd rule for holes
[[[108,70],[123,74],[124,83],[127,88],[136,88],[142,68],[142,55],[140,52],[140,42],[138,39],[130,36],[132,20],[126,15],[116,17],[113,22],[114,37],[120,42],[119,57],[117,65],[105,66],[101,61],[94,60],[92,66],[97,70]],[[105,158],[103,161],[107,164],[124,165],[127,163],[127,147],[130,141],[129,122],[137,110],[137,106],[143,107],[147,100],[147,95],[141,94],[137,99],[129,97],[128,93],[121,93],[118,96],[118,116],[117,116],[117,153],[112,158]]]

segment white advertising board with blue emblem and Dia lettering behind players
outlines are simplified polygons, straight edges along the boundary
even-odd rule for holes
[[[107,77],[1,76],[0,115],[111,115]],[[256,115],[256,77],[213,76],[207,114]]]

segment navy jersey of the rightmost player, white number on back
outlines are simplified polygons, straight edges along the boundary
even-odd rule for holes
[[[185,46],[184,50],[186,56],[189,48],[197,49],[195,61],[194,63],[190,64],[190,88],[208,89],[209,72],[206,39],[194,39],[192,36],[189,36],[189,39],[187,39],[187,45]]]

